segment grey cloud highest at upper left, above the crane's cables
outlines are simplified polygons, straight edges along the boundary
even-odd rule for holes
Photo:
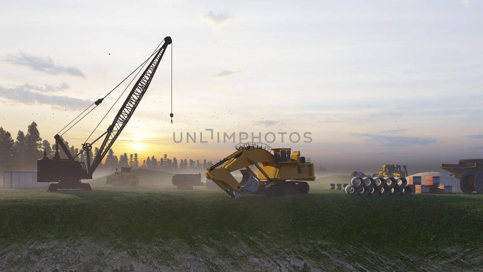
[[[15,65],[27,66],[51,75],[67,74],[71,76],[85,77],[84,73],[82,73],[79,68],[57,65],[50,56],[43,58],[40,56],[28,55],[20,51],[17,55],[7,54],[5,60]]]

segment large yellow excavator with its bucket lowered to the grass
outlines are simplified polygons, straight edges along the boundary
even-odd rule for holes
[[[300,151],[275,148],[264,143],[248,142],[235,146],[236,151],[206,171],[206,178],[213,180],[232,198],[249,194],[283,196],[309,193],[314,181],[310,158],[300,156]],[[257,174],[250,168],[254,165]],[[244,168],[244,169],[243,169]],[[240,170],[238,182],[231,172]]]

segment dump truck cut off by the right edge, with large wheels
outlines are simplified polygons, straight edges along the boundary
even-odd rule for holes
[[[457,165],[441,164],[441,169],[459,179],[459,187],[465,194],[476,191],[483,194],[483,159],[459,160]]]

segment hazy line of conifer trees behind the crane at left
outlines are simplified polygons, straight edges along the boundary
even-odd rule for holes
[[[78,154],[82,148],[76,148],[62,139],[69,148],[72,155]],[[15,140],[12,134],[0,127],[0,171],[35,171],[37,169],[37,159],[43,157],[45,151],[47,157],[52,158],[55,154],[55,144],[50,144],[48,140],[42,140],[36,122],[28,125],[27,134],[19,130]],[[97,156],[99,148],[95,148],[94,152],[89,152],[89,160],[92,163]],[[59,148],[61,158],[66,158],[65,152]],[[75,160],[86,161],[85,152],[74,158]],[[165,171],[203,171],[213,166],[212,161],[192,159],[181,159],[178,162],[176,157],[168,158],[168,154],[164,154],[162,158],[156,159],[155,156],[147,157],[140,162],[138,153],[124,153],[117,157],[114,151],[110,149],[105,157],[105,161],[99,164],[98,169],[114,170],[120,167],[141,167],[147,169],[158,169]]]

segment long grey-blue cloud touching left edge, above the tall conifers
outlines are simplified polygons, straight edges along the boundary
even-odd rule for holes
[[[30,86],[30,85],[29,85]],[[61,106],[65,108],[84,108],[92,102],[74,97],[63,95],[45,95],[41,92],[31,91],[24,85],[14,88],[0,86],[0,97],[13,100],[26,105],[42,104],[51,106]]]

